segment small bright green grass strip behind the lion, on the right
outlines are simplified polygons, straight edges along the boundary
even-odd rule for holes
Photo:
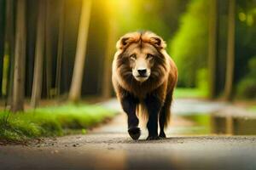
[[[176,88],[174,90],[175,98],[207,98],[207,90],[200,88]]]

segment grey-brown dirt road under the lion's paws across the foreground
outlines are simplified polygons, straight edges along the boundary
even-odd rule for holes
[[[111,102],[106,105],[116,105]],[[256,136],[171,132],[168,139],[146,141],[143,130],[141,140],[133,141],[120,114],[86,135],[0,146],[0,169],[256,169]]]

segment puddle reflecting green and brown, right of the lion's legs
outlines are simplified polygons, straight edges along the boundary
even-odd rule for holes
[[[173,134],[229,134],[256,135],[256,118],[216,116],[212,114],[191,114],[175,116],[182,118],[185,126],[174,126]]]

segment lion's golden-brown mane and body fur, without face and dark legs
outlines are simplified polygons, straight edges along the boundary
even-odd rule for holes
[[[167,107],[167,119],[170,117],[172,92],[177,83],[177,67],[166,53],[166,42],[153,32],[131,32],[117,42],[117,52],[113,59],[113,88],[118,99],[125,93],[131,93],[140,101],[147,94],[154,94]],[[151,75],[145,82],[137,82],[131,75],[129,55],[135,48],[154,51],[155,62]],[[143,102],[141,103],[143,105]],[[166,121],[167,122],[167,121]]]

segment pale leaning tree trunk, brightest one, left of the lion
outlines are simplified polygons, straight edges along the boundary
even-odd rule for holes
[[[69,92],[69,100],[71,101],[78,101],[81,96],[81,87],[84,75],[84,60],[90,24],[90,8],[91,0],[83,0],[81,16],[79,21],[77,51],[73,67],[73,78]]]

